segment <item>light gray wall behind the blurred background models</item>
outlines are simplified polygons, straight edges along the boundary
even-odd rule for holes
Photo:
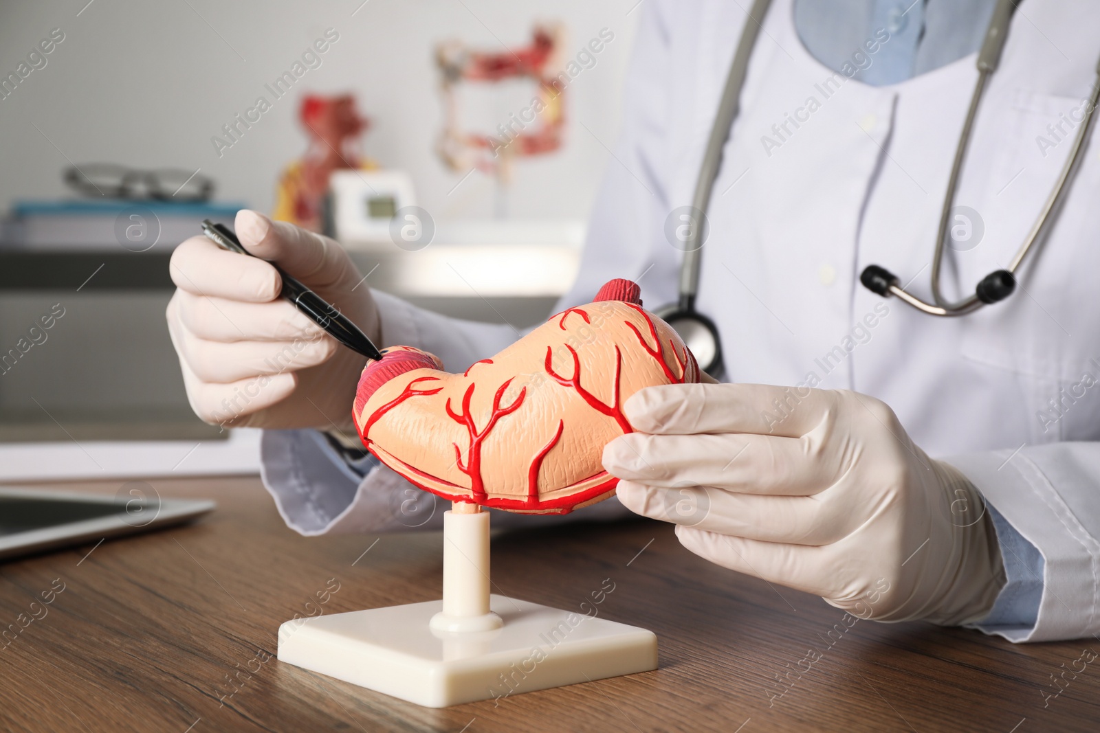
[[[353,16],[361,0],[95,0],[88,7],[87,0],[4,0],[0,76],[14,71],[52,29],[61,27],[65,40],[44,68],[0,100],[0,208],[13,199],[63,195],[58,174],[68,158],[201,167],[220,184],[219,198],[268,210],[278,171],[305,148],[298,99],[311,90],[358,96],[374,120],[365,152],[411,173],[420,206],[433,215],[491,215],[494,181],[476,173],[450,192],[462,175],[446,170],[433,152],[440,122],[433,45],[451,37],[490,49],[503,48],[502,42],[520,45],[535,20],[548,20],[565,23],[568,56],[603,27],[615,40],[570,85],[566,148],[518,167],[509,213],[582,219],[608,160],[603,145],[614,144],[618,129],[623,73],[640,14],[627,15],[635,2],[370,0]],[[340,40],[321,66],[308,70],[290,96],[273,101],[219,157],[210,137],[257,96],[273,100],[264,85],[328,27]],[[475,97],[484,98],[471,90],[470,101]],[[526,87],[502,91],[480,119],[471,114],[470,125],[494,129],[529,99]]]

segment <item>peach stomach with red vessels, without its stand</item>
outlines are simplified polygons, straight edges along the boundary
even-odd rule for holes
[[[604,446],[632,432],[623,414],[644,387],[695,382],[695,358],[612,280],[595,301],[542,325],[463,374],[410,346],[363,370],[353,418],[363,444],[416,486],[451,501],[564,514],[615,493]]]

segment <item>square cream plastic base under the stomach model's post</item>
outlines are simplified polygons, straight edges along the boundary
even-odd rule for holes
[[[490,607],[503,629],[435,632],[442,601],[287,621],[278,659],[428,708],[657,669],[651,631],[505,596]]]

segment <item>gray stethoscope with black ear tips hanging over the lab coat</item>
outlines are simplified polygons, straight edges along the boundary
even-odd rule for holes
[[[957,302],[948,302],[939,289],[939,271],[944,260],[944,246],[947,241],[948,231],[952,223],[952,209],[955,203],[955,189],[958,185],[959,176],[963,173],[963,162],[966,158],[966,149],[970,142],[974,121],[978,113],[978,105],[982,93],[989,81],[989,77],[997,70],[1001,60],[1001,52],[1008,38],[1009,22],[1012,13],[1016,9],[1020,0],[998,0],[993,10],[992,20],[986,31],[986,40],[978,52],[978,82],[975,86],[974,96],[970,98],[970,109],[967,112],[966,121],[963,124],[963,133],[959,137],[958,147],[955,149],[955,162],[952,165],[952,175],[947,182],[947,193],[944,197],[944,207],[939,216],[939,230],[936,240],[935,255],[932,260],[932,298],[934,302],[926,302],[899,285],[900,280],[895,275],[879,265],[868,265],[859,276],[859,281],[868,290],[884,298],[897,296],[903,302],[913,308],[928,313],[930,315],[966,315],[972,313],[982,306],[1004,300],[1016,287],[1015,273],[1023,263],[1024,257],[1034,247],[1038,249],[1043,240],[1053,223],[1054,214],[1062,203],[1067,190],[1069,180],[1074,177],[1081,160],[1081,153],[1088,138],[1092,123],[1092,111],[1100,102],[1100,62],[1097,63],[1097,80],[1092,86],[1092,95],[1086,108],[1085,120],[1082,120],[1074,146],[1069,153],[1069,159],[1062,169],[1058,180],[1050,196],[1047,197],[1043,209],[1040,211],[1035,224],[1027,233],[1026,238],[1020,246],[1012,262],[1005,269],[990,273],[978,282],[975,292]],[[749,57],[756,46],[757,36],[760,34],[761,24],[771,0],[756,0],[749,11],[749,18],[745,22],[741,31],[741,38],[734,53],[734,60],[729,67],[729,75],[726,77],[726,86],[722,92],[722,100],[718,103],[718,112],[714,118],[714,126],[711,129],[711,136],[707,140],[706,149],[703,154],[703,164],[700,167],[698,179],[695,184],[695,195],[692,197],[691,224],[686,227],[686,235],[683,237],[684,256],[680,266],[680,298],[675,303],[670,303],[657,311],[667,321],[680,337],[683,338],[688,347],[691,348],[698,362],[700,367],[712,376],[722,371],[722,342],[718,337],[718,330],[714,321],[695,310],[695,296],[698,292],[698,275],[701,266],[701,255],[705,243],[706,232],[706,210],[711,202],[711,191],[714,181],[718,177],[722,167],[722,151],[729,137],[729,130],[737,116],[741,87],[745,84],[745,75],[748,70]]]

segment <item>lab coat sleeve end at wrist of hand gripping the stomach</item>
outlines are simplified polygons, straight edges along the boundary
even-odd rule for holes
[[[1020,593],[1026,577],[1041,571],[1038,614],[1032,626],[1019,623],[1019,619],[999,625],[999,598],[991,614],[993,623],[975,625],[1012,642],[1081,638],[1100,632],[1100,443],[977,453],[955,456],[947,463],[982,492],[996,511],[994,525],[1000,515],[1042,556],[1040,565],[1028,558],[1026,545],[1014,543],[1009,533],[999,530],[1009,576],[1002,595]]]

